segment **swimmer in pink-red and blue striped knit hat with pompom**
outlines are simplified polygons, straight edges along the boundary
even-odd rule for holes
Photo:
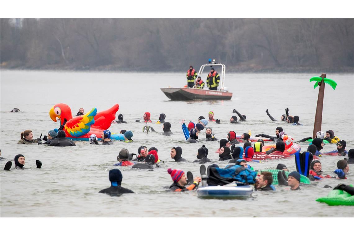
[[[188,190],[193,190],[198,188],[199,183],[201,182],[200,177],[195,177],[193,180],[193,184],[188,184],[187,182],[187,177],[184,174],[184,171],[179,170],[179,169],[167,169],[167,173],[171,175],[171,178],[173,180],[173,184],[170,186],[170,190],[173,192],[184,192]]]

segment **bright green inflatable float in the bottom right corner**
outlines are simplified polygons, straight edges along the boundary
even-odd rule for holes
[[[353,185],[350,185],[353,186]],[[327,197],[320,197],[316,199],[318,202],[325,202],[330,206],[354,206],[354,196],[348,194],[346,191],[333,189]]]

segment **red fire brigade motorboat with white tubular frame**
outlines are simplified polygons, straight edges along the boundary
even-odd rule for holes
[[[211,60],[209,60],[211,61]],[[231,100],[232,93],[228,92],[227,87],[224,86],[225,84],[225,70],[226,67],[224,64],[215,63],[215,60],[209,64],[201,65],[198,76],[202,77],[201,74],[204,71],[204,68],[210,67],[217,67],[221,66],[221,73],[220,75],[220,82],[218,90],[209,90],[207,86],[200,87],[194,85],[193,88],[189,87],[167,87],[167,88],[160,88],[165,95],[173,101],[186,101],[186,100]],[[216,69],[215,69],[216,70]],[[216,70],[217,71],[217,70]],[[196,81],[195,81],[196,82]]]

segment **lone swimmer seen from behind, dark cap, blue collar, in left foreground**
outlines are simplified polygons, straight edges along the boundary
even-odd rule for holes
[[[107,189],[102,189],[101,193],[103,194],[108,194],[110,196],[120,196],[121,194],[126,194],[126,193],[134,193],[130,189],[123,188],[121,186],[123,179],[123,175],[120,172],[119,169],[111,169],[109,171],[109,181],[111,182],[111,186]]]

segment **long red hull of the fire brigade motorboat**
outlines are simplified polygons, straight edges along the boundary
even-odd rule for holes
[[[232,93],[198,88],[161,88],[173,101],[187,100],[230,100]]]

